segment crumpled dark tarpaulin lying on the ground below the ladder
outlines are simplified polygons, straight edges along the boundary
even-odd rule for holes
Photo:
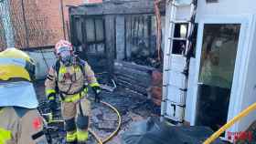
[[[212,133],[206,127],[169,126],[157,118],[149,118],[134,123],[124,132],[122,144],[201,144]],[[213,144],[222,143],[217,139]]]

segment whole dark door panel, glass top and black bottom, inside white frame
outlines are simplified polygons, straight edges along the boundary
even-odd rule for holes
[[[218,130],[227,122],[240,24],[205,24],[197,85],[196,125]]]

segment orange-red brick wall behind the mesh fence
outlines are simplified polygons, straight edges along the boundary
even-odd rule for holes
[[[55,45],[59,39],[64,38],[60,0],[24,0],[27,35],[21,1],[9,0],[9,2],[17,48],[26,48],[27,36],[30,47]],[[85,0],[63,0],[66,38],[68,38],[67,24],[69,25],[68,7],[66,5],[99,2],[102,2],[102,0],[87,0],[86,2]],[[5,46],[5,36],[4,33],[0,35],[0,46],[2,47]]]

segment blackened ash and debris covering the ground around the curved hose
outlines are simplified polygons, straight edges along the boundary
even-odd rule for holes
[[[40,102],[39,111],[43,113],[48,112],[46,97],[44,94],[44,81],[37,81],[35,84],[37,97]],[[121,144],[120,136],[126,130],[129,129],[131,124],[135,121],[143,120],[149,117],[157,117],[160,115],[160,108],[146,98],[146,96],[133,92],[133,90],[117,87],[114,92],[102,91],[102,101],[110,103],[112,106],[118,109],[122,116],[122,125],[119,133],[107,144]],[[89,92],[89,98],[94,98],[91,90]],[[118,117],[116,113],[101,103],[94,103],[91,101],[91,129],[101,138],[106,139],[112,134],[118,125]],[[59,110],[60,116],[60,110]],[[60,117],[61,118],[61,117]],[[60,126],[63,127],[63,126]],[[56,137],[51,137],[54,143],[63,143],[63,128],[60,128]],[[64,132],[65,133],[65,132]],[[54,134],[50,134],[54,135]],[[58,142],[57,142],[58,141]],[[96,140],[91,137],[89,139],[90,144],[96,144]]]

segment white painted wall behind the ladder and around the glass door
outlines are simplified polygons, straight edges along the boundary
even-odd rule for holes
[[[235,15],[253,15],[256,14],[256,1],[255,0],[219,0],[219,3],[206,3],[206,0],[198,0],[198,6],[197,6],[197,22],[202,21],[209,15],[221,15],[221,16],[235,16]],[[177,19],[186,19],[187,15],[189,14],[189,7],[182,7],[177,10],[176,18]],[[168,35],[167,35],[167,30],[169,28],[169,16],[170,15],[170,5],[167,5],[166,8],[166,22],[165,22],[165,46],[168,46]],[[254,18],[255,19],[255,18]],[[253,77],[255,71],[256,71],[256,30],[255,30],[255,23],[256,21],[254,20],[251,24],[254,25],[250,27],[250,29],[247,32],[251,32],[251,36],[247,37],[246,42],[251,42],[251,45],[249,46],[249,49],[251,49],[250,52],[250,57],[247,59],[247,67],[243,68],[249,68],[246,73],[246,80],[245,84],[241,87],[241,101],[238,102],[241,104],[241,106],[236,106],[237,111],[234,111],[233,113],[238,114],[242,109],[247,108],[250,106],[253,102],[256,102],[256,77]],[[197,37],[198,38],[198,37]],[[167,63],[165,61],[165,63]],[[189,77],[194,77],[194,81],[189,81],[189,86],[188,86],[188,91],[189,87],[193,88],[191,86],[194,83],[197,83],[197,77],[193,74],[191,76],[191,73],[193,71],[189,71],[190,76]],[[197,75],[196,75],[197,76]],[[242,83],[241,83],[242,84]],[[195,85],[196,86],[196,85]],[[193,89],[192,89],[193,91]],[[192,119],[192,113],[191,109],[193,105],[193,100],[191,98],[197,97],[197,96],[192,96],[190,92],[188,92],[187,95],[187,107],[186,107],[186,113],[185,113],[185,120],[186,121],[193,121]],[[243,118],[243,120],[240,121],[239,124],[236,125],[236,130],[244,130],[249,127],[251,122],[256,119],[256,112],[251,113],[247,118]]]

